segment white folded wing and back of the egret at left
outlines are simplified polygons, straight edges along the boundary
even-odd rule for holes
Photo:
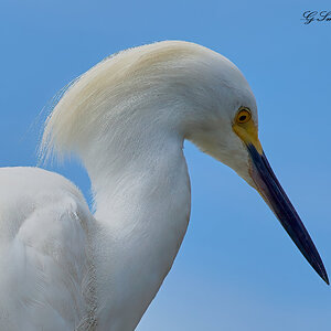
[[[93,330],[92,221],[63,177],[0,169],[0,330]]]

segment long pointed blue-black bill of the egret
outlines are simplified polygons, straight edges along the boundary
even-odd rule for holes
[[[253,163],[250,175],[260,195],[273,210],[282,227],[292,238],[309,264],[329,285],[328,274],[322,259],[299,215],[278,182],[265,153],[263,152],[260,154],[252,143],[247,145],[247,149]]]

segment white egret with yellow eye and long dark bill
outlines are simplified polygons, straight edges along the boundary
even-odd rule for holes
[[[184,139],[255,188],[329,282],[263,152],[255,98],[242,73],[209,49],[166,41],[90,68],[46,121],[44,152],[81,158],[95,214],[56,173],[0,170],[1,330],[136,328],[186,231]]]

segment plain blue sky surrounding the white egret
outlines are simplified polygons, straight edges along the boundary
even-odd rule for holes
[[[303,25],[330,1],[0,2],[0,166],[35,166],[45,114],[70,81],[143,43],[201,43],[245,74],[260,139],[331,276],[331,21]],[[331,288],[232,170],[185,145],[192,217],[184,243],[138,331],[329,330]],[[89,199],[78,162],[49,164]]]

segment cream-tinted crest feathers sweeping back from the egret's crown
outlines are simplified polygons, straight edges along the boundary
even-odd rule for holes
[[[129,49],[103,60],[53,98],[41,156],[47,158],[52,151],[62,154],[79,149],[86,139],[95,138],[96,127],[98,132],[107,130],[110,113],[129,109],[129,105],[146,99],[143,89],[156,83],[151,68],[202,50],[205,49],[193,43],[166,41]],[[157,88],[154,84],[153,90]]]

